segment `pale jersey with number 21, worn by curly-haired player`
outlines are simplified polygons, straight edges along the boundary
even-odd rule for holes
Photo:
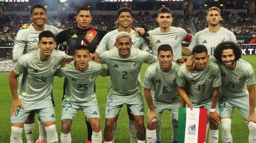
[[[247,85],[255,84],[255,75],[250,63],[239,59],[236,61],[236,68],[229,70],[222,62],[211,58],[219,65],[222,74],[222,86],[220,94],[228,98],[244,98],[248,96]]]

